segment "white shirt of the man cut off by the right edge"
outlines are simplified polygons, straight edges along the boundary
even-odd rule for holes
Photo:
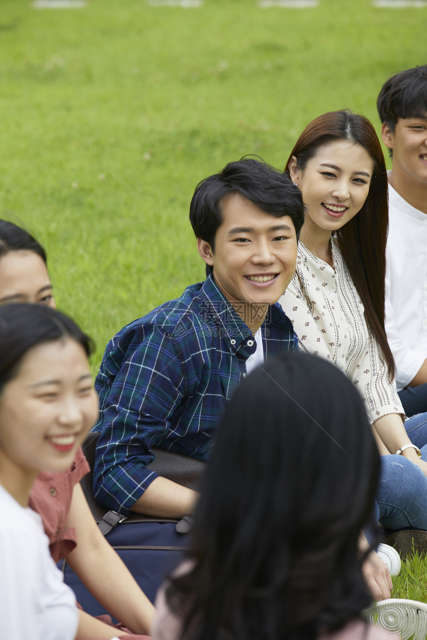
[[[427,358],[427,214],[389,184],[385,330],[405,388]]]

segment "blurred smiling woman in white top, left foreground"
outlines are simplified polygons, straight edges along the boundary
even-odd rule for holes
[[[1,637],[73,640],[77,633],[76,598],[28,502],[37,474],[70,467],[97,417],[89,353],[88,338],[63,314],[0,307]]]

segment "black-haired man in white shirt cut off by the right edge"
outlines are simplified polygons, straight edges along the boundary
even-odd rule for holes
[[[411,416],[427,411],[427,65],[387,80],[377,108],[393,162],[385,329]]]

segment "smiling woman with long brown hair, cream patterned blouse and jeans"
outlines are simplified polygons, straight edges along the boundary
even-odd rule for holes
[[[382,454],[381,524],[427,529],[427,415],[403,424],[384,329],[388,208],[380,141],[364,116],[325,113],[302,132],[285,171],[302,191],[305,220],[296,273],[279,302],[300,349],[334,362],[362,396]]]

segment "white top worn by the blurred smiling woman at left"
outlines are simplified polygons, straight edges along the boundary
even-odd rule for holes
[[[76,597],[49,553],[42,519],[0,485],[0,636],[74,640]]]

